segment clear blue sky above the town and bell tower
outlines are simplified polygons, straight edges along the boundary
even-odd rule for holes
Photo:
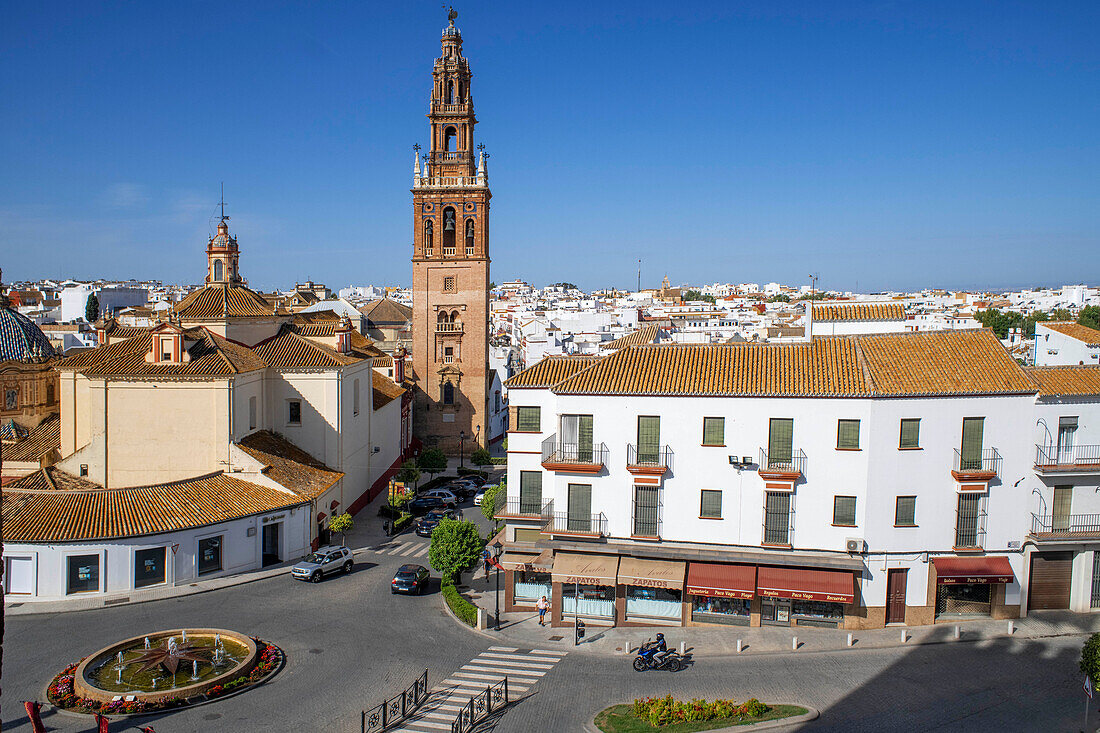
[[[1100,281],[1100,3],[476,2],[493,278]],[[438,2],[12,2],[4,278],[409,283]]]

